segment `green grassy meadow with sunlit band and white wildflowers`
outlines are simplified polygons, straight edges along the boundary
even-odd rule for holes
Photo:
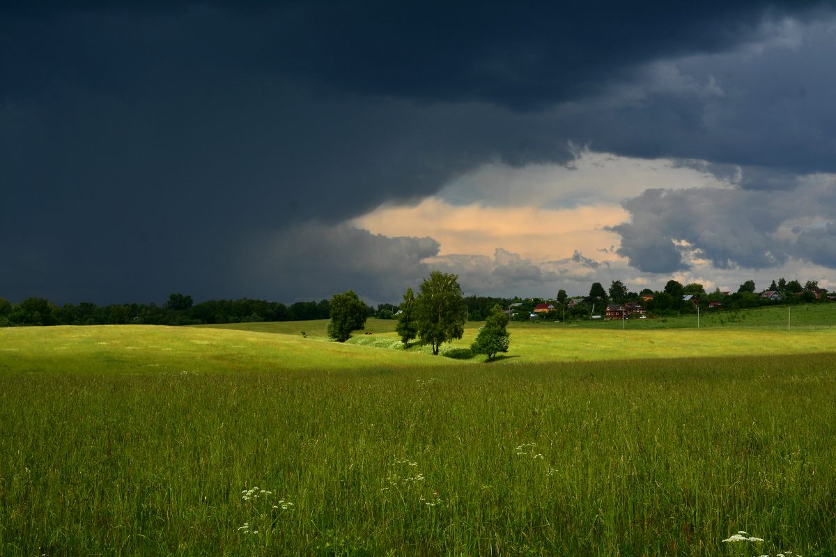
[[[748,315],[0,329],[0,554],[836,554],[836,328]]]

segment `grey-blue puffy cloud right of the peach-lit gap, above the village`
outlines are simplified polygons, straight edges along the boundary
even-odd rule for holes
[[[716,269],[783,266],[790,258],[833,266],[834,175],[793,190],[647,190],[624,201],[630,222],[615,225],[619,255],[640,271],[689,268],[686,252]]]

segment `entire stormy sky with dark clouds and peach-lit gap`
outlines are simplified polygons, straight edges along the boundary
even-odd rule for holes
[[[0,3],[0,297],[833,289],[834,61],[834,2]]]

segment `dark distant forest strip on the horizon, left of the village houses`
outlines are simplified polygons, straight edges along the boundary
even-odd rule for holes
[[[512,300],[470,296],[465,298],[472,320],[482,320],[494,304],[503,307]],[[46,325],[201,325],[210,323],[308,321],[328,319],[329,301],[297,301],[285,305],[280,301],[211,300],[194,303],[191,296],[171,294],[158,306],[122,304],[97,306],[90,302],[58,306],[44,298],[27,298],[19,304],[0,298],[0,327]],[[395,304],[367,306],[370,317],[394,318]]]

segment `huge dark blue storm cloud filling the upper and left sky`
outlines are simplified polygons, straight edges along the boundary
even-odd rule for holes
[[[827,26],[770,60],[735,54],[769,39],[763,22],[824,18],[823,3],[33,6],[0,8],[12,299],[251,296],[242,277],[260,267],[239,256],[254,237],[310,252],[319,239],[293,235],[298,223],[418,200],[486,162],[565,163],[571,140],[790,173],[836,165]],[[355,241],[341,250],[362,259]],[[306,268],[273,266],[311,296],[334,290],[293,275]]]

